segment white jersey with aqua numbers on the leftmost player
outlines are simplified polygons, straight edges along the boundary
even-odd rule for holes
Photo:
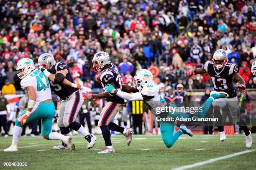
[[[20,86],[24,90],[28,86],[33,86],[36,91],[36,102],[51,99],[51,87],[49,80],[44,73],[38,69],[33,70],[20,81]]]

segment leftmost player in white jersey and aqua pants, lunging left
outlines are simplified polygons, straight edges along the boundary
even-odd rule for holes
[[[33,60],[30,58],[22,58],[17,63],[19,71],[18,77],[22,79],[20,86],[28,91],[28,108],[25,109],[16,119],[13,129],[13,142],[4,152],[18,151],[18,141],[22,132],[22,126],[25,123],[32,123],[35,120],[42,122],[42,135],[47,140],[62,140],[70,147],[75,149],[74,142],[71,137],[64,136],[57,132],[51,132],[52,119],[55,109],[51,99],[51,89],[47,77],[38,69],[35,69]]]

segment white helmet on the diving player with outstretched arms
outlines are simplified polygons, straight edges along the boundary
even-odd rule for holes
[[[133,79],[133,87],[140,90],[146,84],[150,84],[153,82],[153,74],[151,71],[146,69],[139,70]]]

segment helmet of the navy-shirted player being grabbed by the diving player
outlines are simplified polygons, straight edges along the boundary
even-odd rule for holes
[[[110,63],[110,56],[104,51],[97,52],[92,59],[92,69],[97,72]]]

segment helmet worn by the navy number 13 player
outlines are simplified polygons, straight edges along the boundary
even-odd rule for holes
[[[213,66],[216,69],[221,69],[228,62],[228,56],[225,50],[219,49],[213,53],[212,56]]]

